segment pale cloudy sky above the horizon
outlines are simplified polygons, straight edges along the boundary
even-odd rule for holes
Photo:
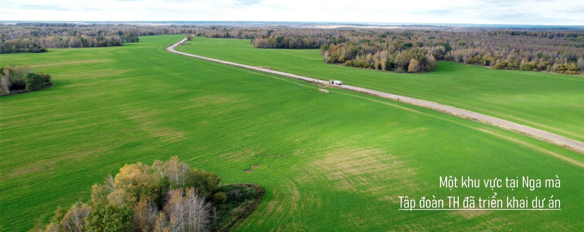
[[[0,0],[0,20],[584,25],[584,0]]]

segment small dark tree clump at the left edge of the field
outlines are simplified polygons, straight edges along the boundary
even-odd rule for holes
[[[34,73],[27,65],[0,68],[0,95],[39,91],[50,86],[53,86],[51,75]]]

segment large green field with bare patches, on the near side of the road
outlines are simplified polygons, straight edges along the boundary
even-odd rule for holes
[[[123,164],[173,155],[217,172],[223,183],[265,188],[241,231],[584,227],[582,155],[434,110],[342,89],[327,94],[296,79],[164,50],[182,37],[2,55],[1,65],[28,64],[55,82],[44,91],[0,98],[2,231],[29,230],[55,207],[88,199],[90,186]],[[490,189],[440,189],[440,175],[558,175],[560,189],[500,190],[498,196],[554,195],[562,210],[398,210],[403,195],[493,195]]]

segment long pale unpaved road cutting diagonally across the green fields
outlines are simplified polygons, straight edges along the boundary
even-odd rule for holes
[[[321,79],[303,77],[300,75],[289,74],[286,72],[267,70],[265,68],[259,68],[259,67],[255,67],[255,66],[245,65],[245,64],[238,64],[238,63],[233,63],[230,61],[217,60],[214,58],[197,56],[197,55],[193,55],[193,54],[189,54],[189,53],[183,53],[180,51],[176,51],[175,47],[178,46],[179,44],[183,43],[185,40],[186,40],[186,38],[176,42],[175,44],[172,44],[171,46],[167,47],[166,50],[170,51],[171,53],[201,58],[203,60],[210,60],[210,61],[214,61],[217,63],[229,64],[229,65],[234,65],[234,66],[243,67],[243,68],[249,68],[251,70],[257,70],[257,71],[262,71],[262,72],[269,72],[272,74],[282,75],[284,77],[302,79],[304,81],[315,82],[318,84],[331,85],[331,84],[329,84],[328,81],[323,81]],[[551,141],[551,143],[555,143],[555,144],[564,144],[564,146],[568,146],[568,147],[572,148],[572,150],[576,150],[576,151],[579,151],[579,153],[584,154],[584,143],[582,143],[581,141],[573,140],[572,138],[566,138],[564,136],[559,136],[557,134],[550,133],[548,131],[535,129],[533,127],[524,126],[522,124],[518,124],[518,123],[514,123],[514,122],[509,122],[507,120],[498,119],[496,117],[482,115],[480,113],[475,113],[475,112],[472,112],[469,110],[458,109],[458,108],[454,108],[452,106],[442,105],[442,104],[439,104],[436,102],[429,102],[429,101],[424,101],[424,100],[420,100],[420,99],[416,99],[416,98],[409,98],[407,96],[388,94],[386,92],[376,91],[373,89],[361,88],[361,87],[352,86],[352,85],[338,85],[337,87],[342,88],[342,89],[349,89],[349,90],[357,91],[357,92],[363,92],[366,94],[381,96],[383,98],[388,98],[388,99],[392,99],[392,100],[399,99],[399,101],[401,101],[401,102],[411,103],[413,105],[419,105],[419,106],[423,106],[423,107],[430,108],[430,109],[436,109],[436,110],[444,111],[444,112],[447,112],[447,113],[450,113],[453,115],[470,117],[471,119],[478,119],[479,121],[484,121],[486,123],[491,123],[491,124],[495,124],[498,126],[502,126],[505,129],[510,129],[512,131],[526,133],[526,134],[530,135],[531,137],[535,137],[535,138],[538,138],[538,139],[543,140],[543,141],[547,140],[548,143],[550,143],[550,141]]]

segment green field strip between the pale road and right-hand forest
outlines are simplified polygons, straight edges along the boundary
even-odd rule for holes
[[[177,50],[439,102],[584,141],[584,78],[438,62],[427,74],[322,63],[317,49],[254,49],[249,40],[194,37]]]

